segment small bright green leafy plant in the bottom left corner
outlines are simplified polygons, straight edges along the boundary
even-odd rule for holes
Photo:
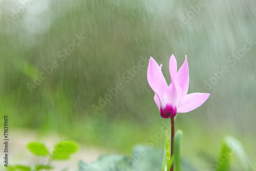
[[[55,144],[52,152],[41,142],[30,142],[27,144],[27,149],[35,156],[42,157],[47,161],[47,164],[36,164],[34,167],[25,165],[13,165],[7,169],[19,170],[19,171],[37,171],[37,170],[52,170],[54,169],[50,162],[53,160],[67,160],[70,159],[71,155],[76,153],[78,145],[73,141],[59,141]]]

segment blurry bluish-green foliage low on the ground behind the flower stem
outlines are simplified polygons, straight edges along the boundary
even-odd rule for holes
[[[163,157],[164,156],[164,157]],[[174,155],[175,156],[175,155]],[[173,164],[174,156],[170,159]],[[162,160],[164,158],[164,160]],[[166,157],[162,151],[143,145],[135,146],[131,158],[124,155],[104,155],[92,163],[79,162],[79,171],[143,171],[159,170],[164,161],[164,169],[167,170]],[[193,165],[182,161],[182,169],[196,171]]]

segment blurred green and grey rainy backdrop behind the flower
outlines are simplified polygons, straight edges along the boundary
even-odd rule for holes
[[[57,134],[115,154],[160,132],[150,56],[178,68],[200,108],[178,114],[181,156],[203,170],[231,135],[256,160],[255,1],[0,0],[0,112],[10,134]],[[20,136],[22,138],[23,136]],[[13,137],[15,138],[15,137]],[[164,136],[153,143],[164,148]],[[252,163],[256,167],[255,163]],[[236,158],[233,170],[241,170]]]

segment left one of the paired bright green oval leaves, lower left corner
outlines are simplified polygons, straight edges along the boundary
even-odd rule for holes
[[[36,156],[47,156],[49,151],[41,142],[30,142],[27,145],[28,150]]]

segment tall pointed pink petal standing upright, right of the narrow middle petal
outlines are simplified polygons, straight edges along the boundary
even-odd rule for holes
[[[184,99],[188,91],[189,75],[187,55],[185,61],[175,76],[176,86],[181,89],[181,95],[177,99],[177,105]]]

